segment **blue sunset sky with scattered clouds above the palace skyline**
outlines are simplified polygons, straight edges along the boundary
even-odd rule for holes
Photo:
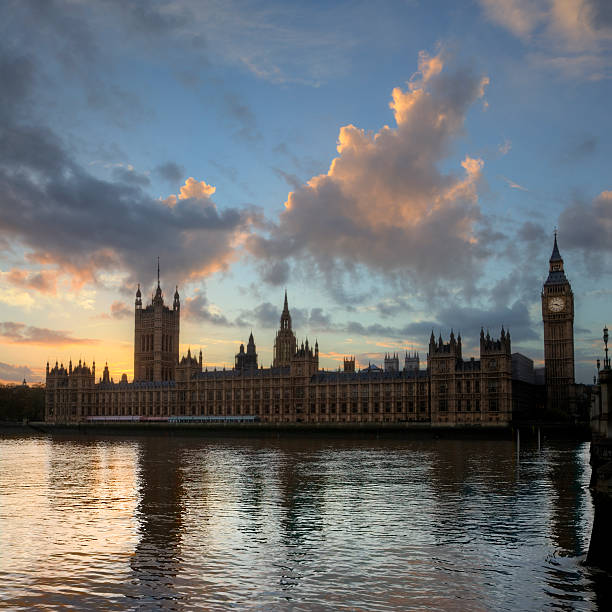
[[[5,0],[0,381],[133,373],[134,299],[181,296],[181,353],[272,361],[285,289],[320,367],[543,363],[553,232],[576,379],[612,322],[612,4]]]

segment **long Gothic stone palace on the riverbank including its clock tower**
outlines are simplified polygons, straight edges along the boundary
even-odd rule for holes
[[[569,409],[574,388],[574,299],[557,238],[542,288],[545,389],[548,406]],[[461,336],[448,342],[433,331],[427,363],[406,353],[386,355],[384,367],[319,369],[318,343],[298,345],[285,292],[270,368],[258,366],[253,334],[231,370],[203,367],[202,352],[179,357],[180,297],[164,303],[159,283],[143,307],[136,292],[134,380],[113,382],[108,367],[96,382],[92,367],[47,363],[45,420],[253,420],[262,423],[421,423],[431,426],[507,426],[513,418],[513,383],[534,382],[533,362],[511,352],[510,333],[480,332],[479,359],[464,359]],[[527,374],[525,374],[527,372]],[[516,405],[516,401],[514,402]]]

